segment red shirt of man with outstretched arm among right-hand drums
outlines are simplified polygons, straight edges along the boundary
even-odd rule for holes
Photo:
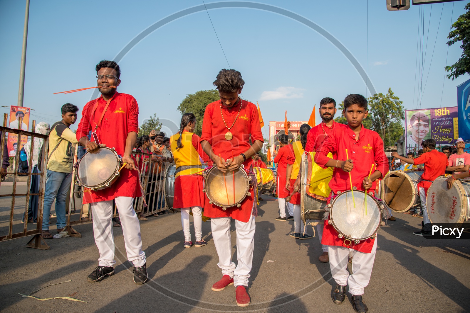
[[[431,180],[418,183],[418,186],[425,188],[426,192],[434,179],[446,173],[446,167],[449,163],[447,156],[436,149],[423,153],[421,157],[417,157],[413,161],[415,161],[415,165],[424,164],[424,173],[421,175],[421,179]]]

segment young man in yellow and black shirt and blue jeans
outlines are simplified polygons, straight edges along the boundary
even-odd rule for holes
[[[72,183],[73,155],[76,135],[69,128],[77,120],[78,107],[66,103],[62,106],[62,120],[54,123],[49,132],[49,157],[47,161],[46,190],[42,218],[42,237],[53,238],[49,232],[49,214],[55,199],[57,233],[63,231],[67,193]]]

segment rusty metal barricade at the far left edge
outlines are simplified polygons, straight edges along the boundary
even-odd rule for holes
[[[49,246],[47,245],[46,241],[44,238],[41,237],[41,232],[42,232],[42,214],[43,214],[43,207],[44,207],[44,189],[46,187],[46,175],[44,174],[44,169],[46,168],[47,164],[47,156],[49,152],[49,136],[48,135],[43,135],[43,134],[38,134],[34,132],[28,132],[25,130],[21,130],[20,127],[22,125],[22,119],[20,118],[18,125],[19,129],[12,129],[7,127],[7,118],[8,114],[4,114],[3,118],[3,127],[0,127],[1,131],[1,149],[0,149],[0,168],[3,165],[3,153],[4,153],[4,145],[6,144],[6,138],[7,138],[7,133],[10,134],[17,134],[17,142],[16,142],[16,155],[14,158],[14,171],[11,172],[5,172],[3,174],[6,175],[13,175],[13,184],[12,184],[12,189],[11,193],[1,193],[0,194],[0,199],[2,202],[4,201],[3,199],[11,197],[11,205],[10,205],[10,214],[9,214],[9,223],[8,223],[8,234],[2,235],[0,234],[0,241],[5,241],[5,240],[10,240],[14,238],[22,238],[26,236],[31,236],[33,235],[33,238],[27,243],[27,247],[31,248],[37,248],[37,249],[42,249],[46,250],[49,249]],[[35,129],[35,121],[32,121],[32,130]],[[25,193],[17,193],[17,181],[18,181],[18,162],[20,160],[20,150],[21,150],[21,137],[23,136],[28,136],[31,139],[31,149],[30,149],[30,156],[33,154],[33,149],[34,149],[34,139],[35,138],[41,138],[44,140],[43,142],[43,154],[42,154],[42,164],[43,164],[43,171],[40,173],[32,173],[32,158],[29,158],[29,168],[28,172],[25,173],[27,175],[27,183],[26,183],[26,192]],[[38,193],[31,193],[30,192],[30,186],[31,186],[31,176],[32,175],[39,175],[39,192]],[[5,183],[0,182],[0,188],[1,185],[4,186],[3,190],[5,190]],[[39,201],[38,201],[38,217],[37,217],[37,224],[35,229],[30,229],[28,230],[28,225],[31,223],[28,223],[28,210],[29,210],[29,200],[31,196],[38,196]],[[16,201],[16,197],[24,197],[25,198],[25,206],[24,206],[24,213],[21,215],[21,217],[24,217],[24,225],[23,225],[23,230],[20,230],[21,224],[19,223],[19,219],[17,216],[16,211],[15,211],[15,205],[18,204],[18,201]],[[20,209],[17,209],[20,210]],[[20,218],[21,218],[20,217]],[[0,222],[0,229],[3,229],[3,221]],[[15,232],[17,231],[17,232]],[[3,231],[2,231],[3,232]]]

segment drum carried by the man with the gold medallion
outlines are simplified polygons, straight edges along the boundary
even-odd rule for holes
[[[213,166],[203,176],[203,191],[209,198],[209,203],[222,207],[224,211],[235,206],[240,208],[243,199],[251,196],[252,178],[243,170],[243,165],[236,171],[227,171],[225,174]]]

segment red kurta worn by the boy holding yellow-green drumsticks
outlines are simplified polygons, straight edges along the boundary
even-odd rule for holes
[[[326,163],[330,160],[326,155],[331,152],[333,159],[346,160],[346,149],[348,149],[348,157],[353,160],[354,167],[351,171],[352,186],[359,190],[364,190],[362,181],[368,176],[372,164],[376,164],[376,170],[385,177],[389,170],[388,159],[384,151],[384,142],[376,132],[361,127],[359,140],[356,141],[356,134],[349,127],[337,127],[327,139],[321,144],[321,147],[315,154],[315,162],[326,168]],[[372,183],[371,189],[376,188],[375,181]],[[331,190],[337,194],[337,191],[350,190],[349,174],[340,168],[335,168],[333,178],[329,182]],[[321,243],[329,246],[345,246],[354,250],[370,253],[375,239],[367,239],[356,245],[352,243],[345,246],[344,238],[338,238],[338,233],[332,225],[325,221],[323,228],[323,237]]]

